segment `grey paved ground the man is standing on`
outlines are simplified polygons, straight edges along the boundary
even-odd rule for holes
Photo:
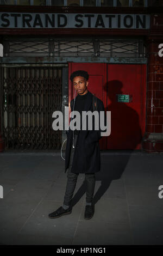
[[[78,176],[72,214],[50,219],[66,188],[60,153],[1,153],[0,244],[163,245],[163,154],[108,151],[101,163],[91,220],[84,219],[84,174]]]

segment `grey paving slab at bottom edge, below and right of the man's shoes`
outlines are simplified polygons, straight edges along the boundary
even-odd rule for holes
[[[73,245],[132,245],[129,223],[79,221]]]

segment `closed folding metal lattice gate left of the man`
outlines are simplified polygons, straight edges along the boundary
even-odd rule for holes
[[[61,131],[52,114],[61,111],[61,68],[2,68],[2,123],[6,148],[59,149]]]

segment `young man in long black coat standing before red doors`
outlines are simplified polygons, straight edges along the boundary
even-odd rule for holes
[[[89,75],[86,71],[74,71],[70,80],[74,89],[78,93],[77,97],[71,101],[71,111],[78,111],[81,117],[83,111],[93,112],[93,104],[97,105],[96,109],[104,111],[104,104],[96,97],[93,101],[93,94],[87,90],[89,85]],[[95,98],[94,98],[95,99]],[[71,118],[72,120],[72,118]],[[95,121],[92,122],[92,127]],[[82,127],[82,126],[81,126]],[[52,212],[48,216],[57,218],[65,214],[71,214],[72,197],[76,187],[79,173],[85,173],[86,182],[86,206],[85,219],[89,220],[94,214],[94,206],[92,204],[93,194],[95,191],[95,173],[101,168],[101,157],[99,149],[99,139],[101,138],[101,130],[71,130],[67,132],[67,144],[65,153],[65,172],[67,171],[67,185],[63,205]]]

